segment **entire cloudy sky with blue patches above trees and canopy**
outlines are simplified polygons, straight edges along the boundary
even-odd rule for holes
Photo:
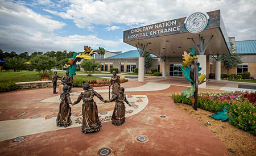
[[[228,36],[256,39],[256,1],[233,0],[0,0],[0,49],[5,52],[81,52],[92,48],[126,52],[123,30],[221,10]]]

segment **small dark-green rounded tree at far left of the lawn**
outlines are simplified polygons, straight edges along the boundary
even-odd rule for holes
[[[24,68],[24,60],[23,58],[19,57],[10,57],[5,59],[5,64],[7,68],[14,69],[16,71],[17,69],[22,69]]]

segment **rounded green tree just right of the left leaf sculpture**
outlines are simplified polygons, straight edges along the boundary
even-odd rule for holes
[[[100,67],[101,64],[95,62],[95,60],[83,60],[81,63],[81,68],[84,69],[88,76],[91,76]]]

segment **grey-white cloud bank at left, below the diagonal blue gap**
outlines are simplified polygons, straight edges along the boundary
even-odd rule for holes
[[[93,35],[57,36],[54,31],[65,23],[37,14],[19,3],[1,3],[0,21],[0,49],[6,52],[81,51],[84,45],[108,48],[122,43]]]

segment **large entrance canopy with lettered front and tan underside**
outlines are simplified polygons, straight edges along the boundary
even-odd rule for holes
[[[200,43],[203,47],[207,47],[210,40],[204,54],[230,54],[227,45],[228,35],[220,10],[207,12],[207,14],[208,25],[199,33],[188,32],[184,26],[186,18],[179,18],[124,31],[123,42],[134,47],[143,45],[147,52],[158,57],[180,57],[183,51],[189,48],[195,49],[199,54],[197,47],[200,47]],[[196,20],[198,19],[194,18],[194,21]]]

